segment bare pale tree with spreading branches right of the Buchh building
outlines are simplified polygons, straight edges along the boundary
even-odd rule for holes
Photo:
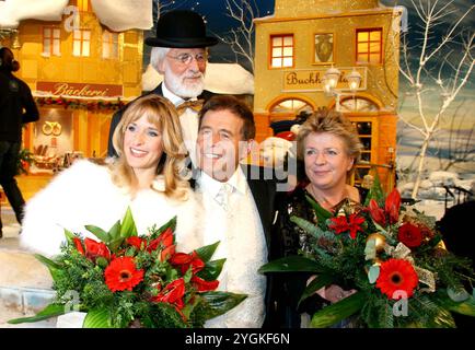
[[[413,63],[414,60],[410,60],[410,54],[415,52],[415,48],[409,49],[407,39],[403,38],[404,65],[401,65],[399,72],[409,82],[409,89],[416,98],[418,118],[414,121],[402,116],[399,118],[422,136],[416,180],[412,194],[413,198],[416,198],[428,147],[433,136],[440,130],[440,121],[444,113],[467,84],[473,72],[475,34],[472,32],[464,36],[460,27],[463,20],[473,13],[475,5],[471,5],[455,22],[452,22],[442,38],[437,40],[435,27],[451,23],[448,16],[455,13],[454,1],[449,1],[442,5],[439,0],[419,0],[417,3],[415,0],[410,1],[420,22],[424,23],[422,31],[417,31],[417,34],[420,35],[420,49],[417,60],[415,60],[417,65]],[[457,37],[462,38],[461,43],[457,43]],[[454,46],[457,46],[457,49],[454,49]],[[433,81],[436,85],[425,86],[429,81]],[[440,97],[441,104],[433,112],[433,101],[439,100],[433,98],[436,93],[438,94],[437,97]],[[431,103],[432,105],[430,105]]]

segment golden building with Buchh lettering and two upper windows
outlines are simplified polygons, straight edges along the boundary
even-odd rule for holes
[[[269,125],[305,110],[337,108],[356,124],[364,145],[355,182],[376,168],[394,185],[401,11],[376,0],[276,0],[256,19],[254,112],[257,138]],[[340,73],[325,91],[328,70]],[[354,72],[361,78],[348,85]]]

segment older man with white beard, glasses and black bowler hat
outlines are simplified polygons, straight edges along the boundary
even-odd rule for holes
[[[198,136],[198,112],[212,93],[204,90],[208,62],[206,48],[218,39],[206,35],[202,18],[193,11],[175,10],[164,13],[157,23],[157,37],[146,38],[152,46],[150,65],[163,75],[163,82],[147,94],[169,98],[178,110],[183,139],[195,160],[195,143]],[[111,122],[108,156],[117,156],[112,144],[112,135],[128,104],[117,110]]]

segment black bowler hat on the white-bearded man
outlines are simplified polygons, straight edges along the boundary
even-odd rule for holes
[[[146,38],[146,44],[172,48],[195,48],[216,45],[218,39],[206,36],[205,21],[198,13],[175,10],[159,18],[157,37]]]

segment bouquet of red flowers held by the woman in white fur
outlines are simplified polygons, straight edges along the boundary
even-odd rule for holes
[[[85,226],[99,241],[65,231],[61,255],[54,260],[36,256],[50,270],[56,300],[36,316],[10,323],[76,310],[88,313],[83,327],[202,327],[240,304],[246,295],[216,291],[225,260],[211,260],[219,242],[176,252],[175,226],[173,218],[139,236],[128,210],[108,232]]]

